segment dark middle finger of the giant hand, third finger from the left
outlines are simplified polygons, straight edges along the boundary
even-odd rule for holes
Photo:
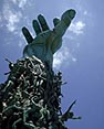
[[[42,31],[50,30],[50,29],[49,29],[49,25],[48,25],[48,23],[46,23],[44,17],[43,17],[42,14],[39,14],[39,15],[38,15],[38,20],[39,20],[39,22],[40,22],[40,25],[41,25],[41,28],[42,28]]]

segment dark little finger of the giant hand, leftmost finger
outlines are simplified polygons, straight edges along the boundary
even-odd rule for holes
[[[22,33],[23,33],[23,35],[24,35],[27,42],[28,42],[29,44],[32,43],[33,37],[32,37],[32,35],[30,34],[29,30],[28,30],[25,26],[22,28]]]

